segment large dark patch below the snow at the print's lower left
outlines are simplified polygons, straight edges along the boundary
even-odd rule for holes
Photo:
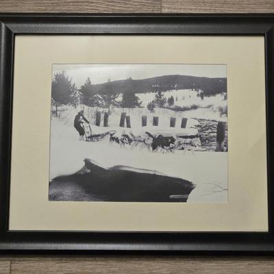
[[[103,168],[86,159],[81,171],[53,179],[49,200],[184,202],[193,188],[191,182],[155,171],[129,166]]]

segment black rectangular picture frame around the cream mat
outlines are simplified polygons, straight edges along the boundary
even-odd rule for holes
[[[264,36],[269,232],[10,231],[14,36],[18,34]],[[0,14],[0,251],[274,253],[274,14]]]

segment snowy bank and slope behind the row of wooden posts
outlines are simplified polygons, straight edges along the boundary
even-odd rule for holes
[[[218,94],[211,97],[204,97],[201,100],[197,97],[197,92],[194,90],[171,90],[164,92],[164,97],[169,98],[171,95],[177,101],[174,105],[179,108],[189,110],[175,111],[167,108],[155,108],[153,111],[147,109],[147,104],[155,97],[154,92],[136,94],[142,101],[142,108],[111,108],[108,125],[110,127],[119,127],[121,113],[125,112],[130,116],[132,128],[139,130],[142,127],[142,116],[147,116],[147,126],[152,126],[154,116],[159,117],[159,129],[166,129],[170,126],[171,117],[176,119],[175,128],[181,128],[182,118],[187,118],[186,127],[195,127],[197,119],[208,119],[214,121],[227,121],[227,114],[223,113],[227,108],[227,100],[224,100],[224,95]],[[121,100],[121,98],[120,98]],[[195,105],[195,108],[192,108]],[[103,108],[90,108],[86,105],[79,105],[78,109],[64,106],[64,111],[61,113],[60,119],[67,125],[72,125],[73,119],[77,114],[77,110],[84,108],[85,116],[89,121],[95,123],[97,112],[101,112],[101,125],[103,125],[103,116],[108,110]],[[145,129],[145,128],[143,128]]]

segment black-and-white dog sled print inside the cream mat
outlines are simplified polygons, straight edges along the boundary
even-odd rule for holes
[[[53,64],[49,201],[227,203],[225,64]]]

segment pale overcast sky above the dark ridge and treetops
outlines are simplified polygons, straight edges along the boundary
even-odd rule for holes
[[[225,64],[53,64],[54,73],[66,71],[79,88],[88,77],[92,84],[115,80],[146,79],[162,75],[227,77]]]

